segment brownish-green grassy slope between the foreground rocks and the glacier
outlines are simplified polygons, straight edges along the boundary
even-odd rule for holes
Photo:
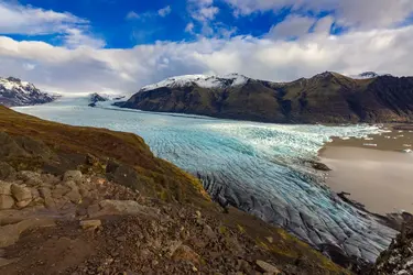
[[[18,169],[57,166],[55,163],[58,162],[62,166],[67,165],[67,168],[80,167],[84,172],[91,168],[104,173],[105,162],[116,160],[135,169],[139,182],[134,185],[139,186],[133,187],[145,196],[161,195],[165,199],[167,194],[171,200],[209,204],[209,197],[198,179],[155,157],[135,134],[65,125],[21,114],[1,106],[0,131],[17,136],[17,140],[28,144],[26,147],[39,147],[40,152],[33,152],[33,155],[17,154],[8,157],[8,162]],[[90,156],[99,161],[85,166],[90,162]],[[164,190],[163,195],[157,190]]]

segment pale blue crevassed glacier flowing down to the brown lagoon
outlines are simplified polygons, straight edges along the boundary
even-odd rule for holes
[[[372,263],[395,231],[345,204],[305,165],[332,136],[362,138],[374,125],[285,125],[119,109],[61,98],[14,110],[72,125],[142,136],[159,157],[199,177],[213,198],[280,226],[326,254]]]

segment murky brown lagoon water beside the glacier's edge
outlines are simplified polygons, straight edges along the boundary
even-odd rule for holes
[[[413,213],[413,125],[385,124],[382,130],[363,139],[333,138],[317,156],[330,168],[324,183],[344,201],[387,221],[399,220],[402,212]]]

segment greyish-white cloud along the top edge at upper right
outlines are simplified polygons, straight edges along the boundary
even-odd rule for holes
[[[334,11],[338,23],[358,29],[394,26],[412,15],[411,0],[225,0],[236,15],[279,11],[291,8],[295,12]]]

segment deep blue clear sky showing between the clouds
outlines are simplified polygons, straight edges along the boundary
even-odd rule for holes
[[[7,1],[6,1],[7,2]],[[214,7],[219,11],[214,20],[194,19],[197,1],[128,1],[128,0],[22,0],[23,6],[39,7],[55,12],[69,12],[90,21],[89,31],[96,37],[105,40],[107,48],[128,48],[137,44],[152,44],[156,41],[194,41],[204,35],[220,37],[228,35],[262,36],[272,25],[282,22],[290,13],[291,7],[284,7],[276,12],[263,11],[248,16],[237,15],[225,1],[216,1]],[[207,6],[211,7],[211,6]],[[164,11],[164,13],[162,13]],[[161,13],[161,14],[160,14]],[[320,18],[326,11],[303,11],[297,14]],[[213,32],[203,31],[205,21]],[[194,24],[192,32],[186,29]],[[186,29],[186,31],[185,31]],[[9,34],[17,40],[42,40],[53,45],[64,42],[54,35],[19,35]]]

